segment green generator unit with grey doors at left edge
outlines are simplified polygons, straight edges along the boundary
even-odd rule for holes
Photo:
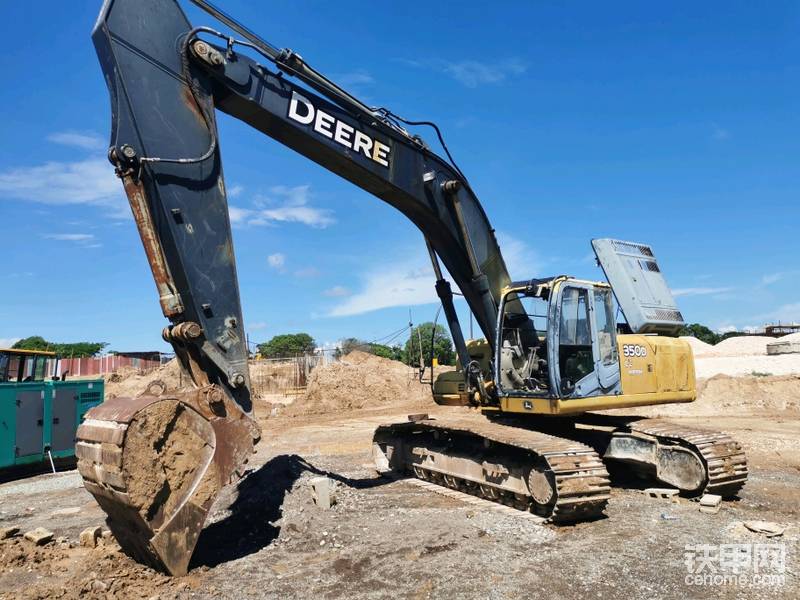
[[[65,381],[58,366],[53,352],[0,349],[0,472],[74,461],[75,432],[104,382]]]

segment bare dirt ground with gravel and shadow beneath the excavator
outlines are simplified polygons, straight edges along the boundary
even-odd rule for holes
[[[416,400],[271,418],[264,409],[252,469],[218,499],[185,577],[138,565],[113,540],[77,546],[103,513],[74,471],[0,485],[0,528],[42,526],[63,538],[42,548],[0,541],[0,598],[797,598],[800,381],[775,379],[705,383],[718,398],[701,398],[695,414],[647,409],[744,445],[750,479],[716,515],[686,499],[648,498],[647,484],[621,480],[606,518],[541,525],[377,477],[372,430],[418,412]],[[731,400],[740,388],[744,400]],[[320,474],[338,482],[329,510],[311,499],[309,480]],[[758,519],[785,533],[768,539],[742,526]],[[776,543],[786,552],[782,584],[686,583],[687,545]]]

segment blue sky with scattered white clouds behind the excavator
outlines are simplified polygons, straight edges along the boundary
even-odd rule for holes
[[[167,349],[104,158],[99,4],[3,7],[0,345]],[[601,279],[590,239],[633,239],[692,322],[800,320],[800,3],[220,4],[366,103],[436,121],[514,278]],[[409,308],[433,317],[401,214],[224,115],[220,135],[252,340],[374,339]]]

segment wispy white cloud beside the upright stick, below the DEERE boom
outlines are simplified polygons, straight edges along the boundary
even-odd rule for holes
[[[311,187],[275,186],[267,196],[257,196],[256,208],[229,207],[231,223],[235,225],[263,226],[280,223],[302,223],[324,229],[336,222],[332,211],[309,205]]]

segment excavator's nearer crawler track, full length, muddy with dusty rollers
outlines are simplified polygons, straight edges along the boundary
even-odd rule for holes
[[[599,517],[610,498],[597,453],[579,442],[472,419],[378,427],[379,471],[411,473],[557,523]]]

